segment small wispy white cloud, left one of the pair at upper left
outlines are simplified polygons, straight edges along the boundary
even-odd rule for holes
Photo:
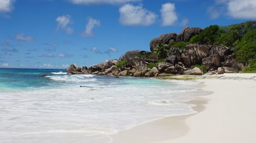
[[[68,27],[68,25],[72,24],[71,16],[69,14],[59,16],[55,20],[56,20],[56,22],[58,22],[56,31],[58,31],[60,28],[62,28],[67,31],[67,34],[74,33],[74,29],[71,27]]]

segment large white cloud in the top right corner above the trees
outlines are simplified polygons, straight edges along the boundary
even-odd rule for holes
[[[207,13],[212,19],[224,15],[233,19],[255,20],[256,0],[215,0],[215,6],[209,6]]]

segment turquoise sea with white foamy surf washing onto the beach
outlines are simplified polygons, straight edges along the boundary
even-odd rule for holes
[[[0,69],[0,143],[111,143],[123,130],[195,113],[183,102],[198,88],[193,81]]]

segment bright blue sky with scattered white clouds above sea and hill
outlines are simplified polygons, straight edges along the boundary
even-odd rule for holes
[[[256,19],[256,0],[0,0],[0,67],[88,67],[183,27]]]

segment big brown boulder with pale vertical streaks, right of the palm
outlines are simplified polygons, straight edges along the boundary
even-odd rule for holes
[[[209,56],[211,45],[188,44],[186,50],[182,51],[181,57],[185,66],[201,64],[202,59]]]

